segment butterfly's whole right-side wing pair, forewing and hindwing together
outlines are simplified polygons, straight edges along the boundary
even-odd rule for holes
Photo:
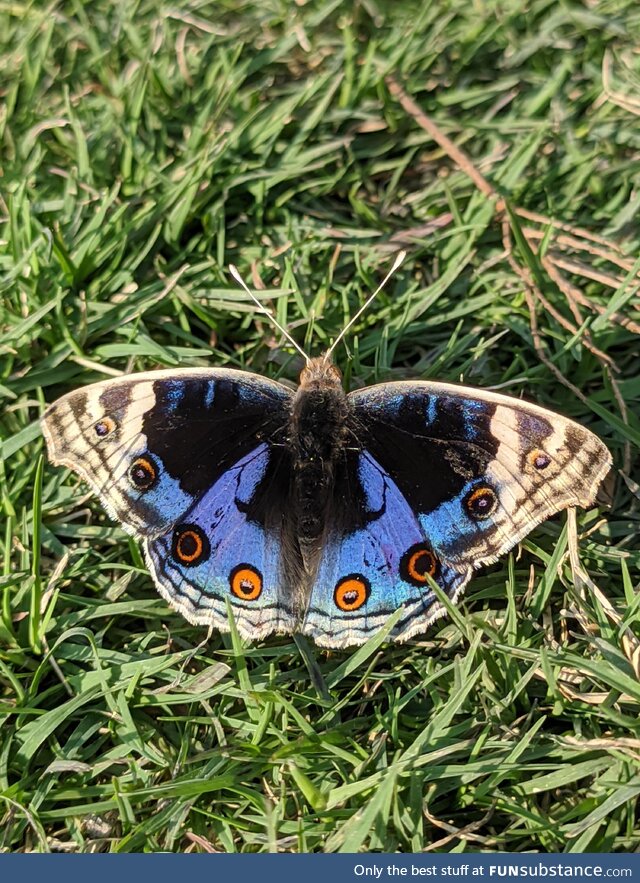
[[[365,641],[399,607],[406,640],[455,601],[473,570],[535,525],[589,506],[611,466],[589,430],[536,405],[450,384],[352,393],[354,436],[304,631],[325,646]],[[428,576],[427,576],[428,575]]]

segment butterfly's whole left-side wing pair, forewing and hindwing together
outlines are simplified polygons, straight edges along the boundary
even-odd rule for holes
[[[290,400],[245,372],[157,371],[69,393],[42,428],[50,459],[144,539],[169,603],[224,629],[228,598],[239,630],[260,637],[291,628],[280,577]]]

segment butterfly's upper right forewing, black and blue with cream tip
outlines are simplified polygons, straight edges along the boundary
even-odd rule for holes
[[[456,565],[493,561],[555,512],[590,506],[611,467],[588,429],[508,396],[405,382],[350,399],[363,445]]]

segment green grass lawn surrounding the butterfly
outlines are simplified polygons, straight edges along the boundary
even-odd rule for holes
[[[634,0],[0,16],[1,848],[637,850]],[[611,505],[578,520],[596,586],[562,515],[408,645],[204,641],[44,463],[45,402],[161,366],[295,380],[227,265],[317,353],[401,243],[337,353],[347,382],[463,378],[598,432]]]

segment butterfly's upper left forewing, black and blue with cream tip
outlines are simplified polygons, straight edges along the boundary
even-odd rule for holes
[[[277,437],[290,396],[241,371],[152,371],[63,396],[42,429],[54,464],[77,472],[129,533],[154,536]]]

